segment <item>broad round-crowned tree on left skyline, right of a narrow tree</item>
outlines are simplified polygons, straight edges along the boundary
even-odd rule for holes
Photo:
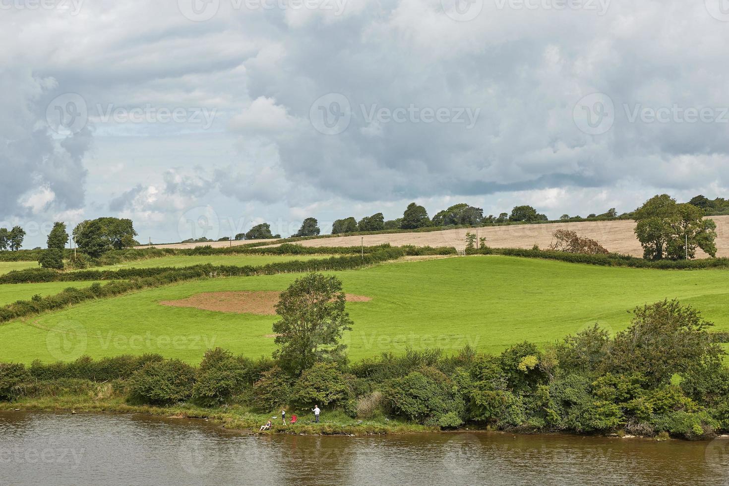
[[[74,228],[74,241],[79,250],[90,256],[100,256],[105,251],[139,244],[134,237],[131,219],[87,219]]]

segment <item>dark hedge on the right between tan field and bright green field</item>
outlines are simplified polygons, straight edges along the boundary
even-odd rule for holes
[[[526,250],[522,248],[478,248],[467,250],[469,255],[522,256],[559,260],[561,262],[603,265],[606,267],[655,268],[658,270],[699,270],[703,268],[729,267],[728,258],[708,258],[695,260],[646,260],[635,256],[620,254],[587,255],[566,253],[564,251]]]

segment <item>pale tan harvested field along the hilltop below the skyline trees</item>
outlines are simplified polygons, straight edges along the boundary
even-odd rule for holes
[[[729,216],[709,216],[717,224],[717,256],[729,256]],[[608,249],[620,254],[643,256],[643,250],[635,233],[635,222],[600,221],[551,224],[515,224],[511,226],[494,226],[483,228],[461,228],[459,230],[443,230],[433,232],[391,233],[383,235],[342,236],[336,238],[318,238],[303,240],[303,246],[358,246],[364,242],[366,246],[390,243],[392,246],[455,246],[463,250],[466,246],[466,233],[477,232],[478,237],[485,237],[488,246],[497,248],[531,248],[537,244],[539,248],[547,248],[552,241],[555,230],[572,230],[578,235],[592,238]],[[364,238],[364,239],[363,239]],[[253,243],[260,240],[233,242]],[[227,246],[227,241],[214,243],[186,243],[179,245],[158,245],[169,248],[192,248],[198,245]],[[278,243],[273,244],[276,246]],[[699,258],[705,258],[702,251],[697,252]]]

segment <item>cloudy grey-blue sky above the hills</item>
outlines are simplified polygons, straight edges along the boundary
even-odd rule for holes
[[[728,41],[729,0],[0,0],[0,227],[729,197]]]

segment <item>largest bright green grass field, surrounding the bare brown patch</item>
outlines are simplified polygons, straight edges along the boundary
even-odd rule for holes
[[[636,305],[677,297],[729,330],[729,272],[598,267],[505,256],[469,256],[382,264],[337,273],[348,293],[353,359],[406,346],[499,352],[523,340],[544,344],[599,323],[628,326]],[[297,275],[219,278],[86,302],[0,325],[0,361],[70,360],[162,353],[197,363],[206,348],[269,355],[273,315],[167,307],[160,300],[207,291],[282,290]],[[61,287],[67,284],[60,284]],[[28,324],[32,322],[32,324]]]

